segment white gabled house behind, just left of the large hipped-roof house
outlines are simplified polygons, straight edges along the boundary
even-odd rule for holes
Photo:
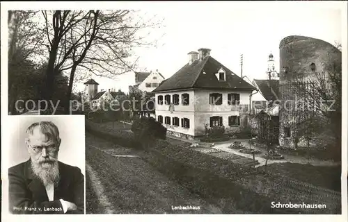
[[[135,85],[142,92],[152,92],[164,80],[158,70],[151,72],[135,72]]]

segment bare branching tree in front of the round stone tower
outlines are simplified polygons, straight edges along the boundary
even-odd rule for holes
[[[296,130],[306,137],[326,134],[326,142],[333,137],[333,153],[340,156],[342,120],[342,68],[340,62],[326,65],[325,72],[313,71],[307,78],[296,78],[292,85],[298,90],[303,108],[296,108]],[[293,113],[293,114],[294,114]],[[318,141],[319,142],[319,141]]]

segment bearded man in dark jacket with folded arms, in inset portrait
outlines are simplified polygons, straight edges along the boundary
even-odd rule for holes
[[[8,169],[13,214],[84,214],[84,175],[58,161],[59,130],[50,121],[26,129],[30,159]]]

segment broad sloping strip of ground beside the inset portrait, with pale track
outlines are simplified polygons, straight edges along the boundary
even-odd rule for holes
[[[221,214],[151,167],[139,151],[87,134],[86,161],[87,214]],[[173,210],[180,206],[200,210]]]

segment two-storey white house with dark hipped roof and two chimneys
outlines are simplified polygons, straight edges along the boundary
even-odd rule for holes
[[[155,92],[157,121],[168,135],[192,139],[205,127],[224,126],[226,133],[246,126],[253,85],[210,56],[210,49],[189,53],[189,62]]]

